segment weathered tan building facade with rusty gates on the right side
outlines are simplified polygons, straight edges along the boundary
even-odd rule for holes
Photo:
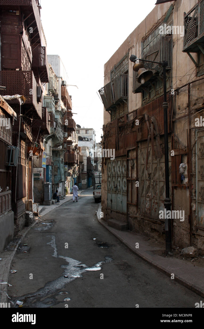
[[[204,253],[203,116],[204,1],[167,1],[155,6],[104,65],[102,211],[127,229],[165,239],[164,101],[162,69],[137,81],[131,55],[167,61],[169,181],[173,245]],[[202,119],[201,119],[202,120]],[[200,121],[199,121],[200,122]],[[173,152],[172,152],[173,151]],[[107,153],[108,154],[108,153]],[[121,224],[121,225],[122,225]],[[111,225],[111,223],[110,223]]]

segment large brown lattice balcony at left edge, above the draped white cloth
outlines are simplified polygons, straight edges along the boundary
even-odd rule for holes
[[[0,86],[6,90],[0,90],[2,96],[23,95],[26,97],[24,108],[35,108],[27,115],[42,118],[42,103],[37,102],[37,83],[32,71],[0,71]],[[9,104],[19,104],[18,99],[7,100]]]

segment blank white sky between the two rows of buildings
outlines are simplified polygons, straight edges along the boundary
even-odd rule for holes
[[[103,104],[96,94],[104,86],[104,64],[150,13],[156,0],[41,0],[47,53],[64,63],[76,124],[93,128],[101,140]]]

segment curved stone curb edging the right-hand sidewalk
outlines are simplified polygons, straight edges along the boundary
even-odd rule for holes
[[[143,259],[145,262],[147,262],[148,264],[152,265],[153,267],[155,267],[156,269],[158,269],[160,272],[166,274],[167,276],[171,277],[171,271],[168,271],[165,267],[158,265],[156,262],[150,261],[147,257],[145,257],[142,253],[140,253],[139,251],[137,251],[137,249],[134,249],[126,240],[123,240],[121,238],[120,235],[118,235],[116,232],[114,232],[112,230],[112,228],[110,226],[108,226],[108,224],[103,223],[103,220],[101,220],[101,218],[99,217],[99,211],[101,211],[101,203],[98,207],[98,211],[96,213],[97,215],[97,219],[98,222],[100,224],[102,224],[109,232],[111,232],[118,240],[120,240],[123,244],[125,244],[134,254],[136,254],[139,258]],[[181,285],[185,286],[186,288],[188,288],[191,291],[194,291],[195,293],[197,293],[198,295],[204,297],[204,292],[199,290],[198,287],[193,286],[190,282],[184,280],[183,278],[179,277],[178,275],[176,276],[174,274],[174,280],[177,281],[178,283],[180,283]]]

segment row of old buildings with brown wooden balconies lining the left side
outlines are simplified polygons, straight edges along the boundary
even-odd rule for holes
[[[78,176],[68,77],[58,55],[48,62],[40,11],[38,0],[0,1],[1,123],[12,122],[0,134],[0,250],[34,220],[39,204],[52,203],[56,189],[61,197],[71,193]]]

